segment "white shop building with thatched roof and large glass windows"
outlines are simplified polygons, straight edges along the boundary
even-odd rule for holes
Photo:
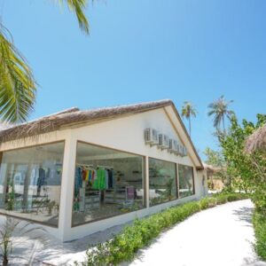
[[[62,241],[207,192],[200,157],[170,100],[72,108],[0,131],[0,213]]]

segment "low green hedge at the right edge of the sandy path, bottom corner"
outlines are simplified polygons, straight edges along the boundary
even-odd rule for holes
[[[266,215],[255,211],[253,215],[256,253],[266,261]]]

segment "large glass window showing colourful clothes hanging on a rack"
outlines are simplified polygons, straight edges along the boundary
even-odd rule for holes
[[[143,157],[77,144],[73,225],[144,207]]]

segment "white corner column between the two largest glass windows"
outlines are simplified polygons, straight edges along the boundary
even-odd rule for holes
[[[75,154],[76,140],[69,134],[65,142],[59,209],[59,239],[62,241],[71,233]]]

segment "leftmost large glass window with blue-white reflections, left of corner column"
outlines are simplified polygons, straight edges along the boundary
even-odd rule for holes
[[[58,226],[64,142],[3,153],[0,212]]]

